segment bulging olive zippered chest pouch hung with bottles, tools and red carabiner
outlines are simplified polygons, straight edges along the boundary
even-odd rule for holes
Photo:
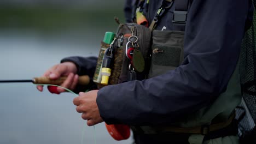
[[[149,69],[151,31],[136,23],[120,23],[111,44],[101,42],[94,82],[98,88],[146,79]],[[103,82],[104,67],[109,79]],[[104,75],[104,74],[103,74]]]

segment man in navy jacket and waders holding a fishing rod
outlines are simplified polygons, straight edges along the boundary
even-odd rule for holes
[[[161,3],[149,1],[144,13],[149,22]],[[73,100],[77,111],[88,125],[103,121],[132,125],[137,144],[238,143],[229,121],[241,100],[236,66],[249,7],[251,3],[245,0],[190,1],[184,61],[179,67],[147,80],[81,92]],[[125,8],[130,22],[130,1]],[[155,29],[173,30],[173,11],[174,6]],[[75,89],[78,75],[93,76],[96,61],[94,57],[64,58],[44,76],[57,79],[66,75],[62,86]],[[64,92],[61,88],[58,91]]]

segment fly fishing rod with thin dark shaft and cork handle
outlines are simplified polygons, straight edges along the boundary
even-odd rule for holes
[[[51,84],[51,85],[61,85],[67,76],[62,76],[59,79],[51,80],[49,77],[34,77],[32,80],[0,80],[0,83],[13,83],[13,82],[32,82],[34,84]],[[79,85],[88,85],[90,82],[90,77],[88,75],[83,75],[78,77]]]

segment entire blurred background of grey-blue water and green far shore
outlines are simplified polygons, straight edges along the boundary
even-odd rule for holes
[[[97,56],[106,31],[124,22],[124,1],[1,0],[0,79],[32,79],[67,56]],[[104,123],[88,127],[70,93],[38,92],[32,83],[0,83],[1,144],[131,143]],[[118,107],[117,107],[118,109]]]

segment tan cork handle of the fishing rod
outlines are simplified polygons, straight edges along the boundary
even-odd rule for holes
[[[57,80],[51,80],[49,77],[34,77],[33,83],[34,84],[51,84],[51,85],[61,85],[67,76],[62,76]],[[88,75],[83,75],[78,77],[78,84],[79,85],[88,85],[90,82],[90,77]]]

